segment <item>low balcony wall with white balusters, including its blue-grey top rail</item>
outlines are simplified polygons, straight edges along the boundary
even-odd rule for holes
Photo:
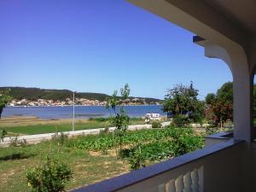
[[[206,148],[73,192],[244,191],[241,165],[246,142],[218,137],[218,143]]]

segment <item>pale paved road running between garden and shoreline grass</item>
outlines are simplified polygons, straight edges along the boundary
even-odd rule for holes
[[[163,122],[162,126],[170,125],[170,122]],[[128,130],[136,131],[142,129],[150,129],[151,125],[129,125]],[[99,134],[100,131],[104,130],[105,128],[98,128],[98,129],[91,129],[91,130],[80,130],[80,131],[65,131],[64,134],[67,134],[69,137],[71,136],[79,136],[79,135],[91,135],[91,134]],[[110,127],[109,131],[115,130],[115,127]],[[59,132],[61,134],[61,132]],[[26,140],[26,143],[40,143],[45,140],[51,139],[55,133],[45,133],[45,134],[38,134],[38,135],[27,135],[27,136],[20,136],[17,137],[18,140]],[[0,143],[0,146],[7,147],[9,143],[15,139],[15,137],[4,137],[3,143]]]

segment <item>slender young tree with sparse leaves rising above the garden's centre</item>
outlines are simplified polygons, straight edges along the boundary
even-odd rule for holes
[[[125,84],[124,88],[120,89],[120,98],[117,96],[118,91],[114,90],[111,98],[107,99],[106,108],[112,110],[110,119],[112,124],[116,127],[114,133],[119,137],[119,151],[122,150],[122,139],[125,131],[128,128],[130,117],[125,113],[124,102],[130,95],[129,84]],[[117,108],[119,106],[119,108]]]

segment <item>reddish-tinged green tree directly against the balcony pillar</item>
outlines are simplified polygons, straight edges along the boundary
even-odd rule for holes
[[[218,89],[217,94],[210,93],[206,96],[207,119],[212,124],[223,127],[225,121],[233,121],[233,83],[227,82]]]

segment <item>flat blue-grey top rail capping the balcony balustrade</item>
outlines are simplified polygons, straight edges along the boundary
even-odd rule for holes
[[[240,143],[244,143],[244,141],[230,139],[224,143],[214,144],[207,148],[201,148],[200,150],[196,150],[188,154],[183,154],[173,158],[172,160],[165,160],[134,172],[128,172],[118,177],[112,177],[100,183],[94,183],[79,189],[74,189],[72,192],[113,192],[119,189],[124,189],[125,187],[131,186],[132,184],[142,182],[148,178],[155,177],[164,172],[172,171],[179,166],[189,164],[195,160],[200,160],[211,154],[216,154],[226,148],[232,148],[233,146]]]

